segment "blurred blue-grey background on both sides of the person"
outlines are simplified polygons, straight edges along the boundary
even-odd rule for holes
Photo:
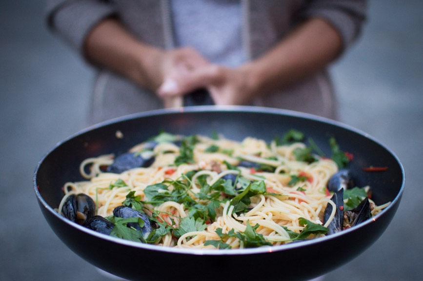
[[[107,280],[56,237],[32,187],[41,157],[88,125],[94,78],[48,33],[43,9],[40,0],[0,4],[0,280]],[[397,154],[406,188],[382,237],[325,281],[423,280],[422,12],[421,0],[370,0],[362,38],[331,68],[340,120]]]

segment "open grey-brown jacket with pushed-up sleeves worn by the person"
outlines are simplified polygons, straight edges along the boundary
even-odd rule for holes
[[[48,0],[47,22],[83,55],[89,31],[104,18],[117,16],[144,43],[175,47],[171,0]],[[346,50],[359,36],[365,20],[365,0],[240,0],[242,50],[254,60],[275,46],[301,21],[320,17],[342,37]],[[201,23],[200,23],[201,24]],[[201,50],[200,50],[201,51]],[[257,98],[253,105],[302,111],[336,119],[336,99],[325,69],[301,82]],[[146,89],[107,69],[98,68],[91,122],[162,108]]]

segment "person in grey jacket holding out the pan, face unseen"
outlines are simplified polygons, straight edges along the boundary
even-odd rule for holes
[[[195,104],[336,119],[327,67],[360,35],[366,1],[49,0],[46,18],[98,71],[93,123]]]

